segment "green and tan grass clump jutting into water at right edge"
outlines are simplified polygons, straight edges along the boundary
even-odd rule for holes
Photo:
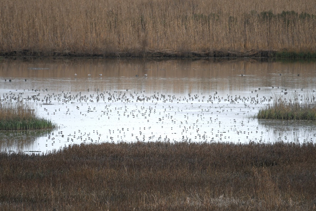
[[[259,119],[280,120],[316,120],[315,96],[298,96],[293,94],[289,99],[274,96],[274,102],[260,109],[255,117]]]

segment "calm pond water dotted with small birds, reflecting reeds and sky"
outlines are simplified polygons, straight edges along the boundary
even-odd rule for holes
[[[315,82],[314,61],[2,59],[1,101],[32,102],[59,128],[0,131],[0,150],[45,153],[121,141],[314,142],[313,121],[251,116],[275,95],[314,95]]]

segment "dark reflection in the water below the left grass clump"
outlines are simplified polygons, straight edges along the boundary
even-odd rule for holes
[[[36,151],[37,138],[47,136],[52,129],[46,130],[10,130],[0,131],[0,152],[32,152]]]

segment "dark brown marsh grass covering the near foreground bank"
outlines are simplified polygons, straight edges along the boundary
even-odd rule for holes
[[[313,210],[316,145],[104,143],[0,153],[2,210]]]

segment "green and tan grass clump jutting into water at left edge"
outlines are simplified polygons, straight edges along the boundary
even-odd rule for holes
[[[0,130],[48,129],[57,127],[40,118],[32,105],[23,102],[0,102]]]

